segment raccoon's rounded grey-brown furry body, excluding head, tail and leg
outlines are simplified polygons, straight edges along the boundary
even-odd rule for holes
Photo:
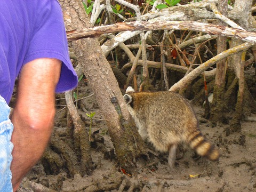
[[[197,129],[194,111],[180,95],[166,91],[143,93],[143,97],[147,101],[144,106],[139,105],[142,103],[139,100],[134,102],[137,111],[134,119],[140,121],[139,132],[147,131],[149,140],[158,150],[167,151],[168,143],[186,141],[187,135]]]

